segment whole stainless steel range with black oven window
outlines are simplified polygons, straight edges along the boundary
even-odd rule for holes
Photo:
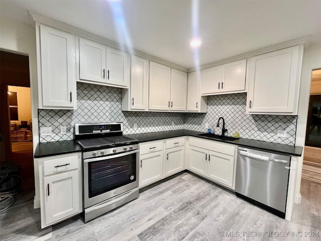
[[[83,149],[85,222],[139,195],[138,141],[122,132],[122,123],[75,125]]]

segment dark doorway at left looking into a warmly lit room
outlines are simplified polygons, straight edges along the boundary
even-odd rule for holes
[[[28,196],[33,197],[35,175],[29,57],[0,51],[0,60],[0,194],[24,193],[26,197],[28,192]],[[25,201],[15,199],[14,205]],[[2,203],[3,206],[7,204]]]

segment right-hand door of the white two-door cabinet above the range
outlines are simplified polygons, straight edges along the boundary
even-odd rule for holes
[[[106,48],[106,83],[128,86],[128,54],[126,52]]]

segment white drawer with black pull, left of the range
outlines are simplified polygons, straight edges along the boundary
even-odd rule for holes
[[[78,154],[74,156],[60,157],[57,159],[44,161],[45,176],[74,169],[78,169]]]

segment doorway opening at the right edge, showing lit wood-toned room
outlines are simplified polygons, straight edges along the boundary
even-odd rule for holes
[[[321,183],[321,69],[312,71],[302,179]]]

